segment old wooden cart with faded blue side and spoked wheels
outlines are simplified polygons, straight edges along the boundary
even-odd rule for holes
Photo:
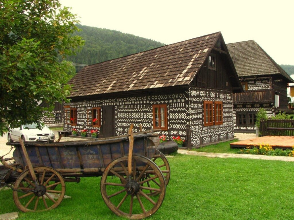
[[[65,182],[101,176],[102,198],[116,215],[143,219],[154,214],[165,196],[168,161],[150,139],[156,133],[133,134],[132,128],[129,135],[97,141],[11,143],[17,165],[0,160],[20,173],[13,186],[16,206],[24,212],[54,209],[64,198]]]

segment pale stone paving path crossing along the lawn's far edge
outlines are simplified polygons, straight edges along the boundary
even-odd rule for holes
[[[265,155],[253,155],[253,154],[236,154],[236,153],[207,153],[198,152],[191,150],[178,149],[178,153],[195,155],[195,156],[205,156],[205,157],[219,157],[219,158],[246,158],[246,159],[259,159],[259,160],[282,160],[294,162],[294,157],[281,157],[281,156],[265,156]]]

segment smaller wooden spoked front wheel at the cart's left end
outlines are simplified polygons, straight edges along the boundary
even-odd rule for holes
[[[51,167],[34,167],[34,172],[37,183],[32,179],[29,170],[25,170],[17,178],[13,187],[14,203],[24,212],[56,208],[65,194],[63,177]],[[51,187],[54,186],[56,189],[52,190]],[[54,194],[48,194],[49,192]]]

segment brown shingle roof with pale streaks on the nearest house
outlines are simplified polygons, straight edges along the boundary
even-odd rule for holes
[[[217,32],[86,66],[69,81],[70,97],[188,85],[220,37]]]

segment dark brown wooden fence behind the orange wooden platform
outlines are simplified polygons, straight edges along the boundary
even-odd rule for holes
[[[294,136],[294,120],[267,120],[260,122],[261,136]]]

